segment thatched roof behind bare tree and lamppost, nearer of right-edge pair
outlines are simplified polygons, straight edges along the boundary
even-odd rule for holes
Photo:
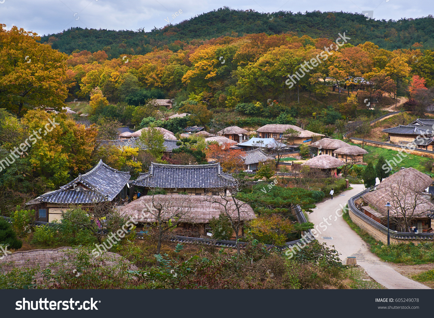
[[[397,185],[368,192],[362,198],[386,216],[387,202],[391,204],[389,214],[393,217],[403,217],[403,213],[408,213],[408,216],[426,218],[431,214],[430,210],[434,209],[431,200],[410,189],[399,188]]]

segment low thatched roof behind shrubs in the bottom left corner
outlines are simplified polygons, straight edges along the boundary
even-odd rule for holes
[[[56,273],[61,268],[74,269],[72,260],[77,258],[79,250],[72,247],[60,247],[57,249],[49,250],[30,250],[25,252],[15,252],[8,254],[0,260],[0,273],[9,273],[14,268],[20,270],[37,268],[35,279],[36,282],[42,280],[42,271],[44,269],[51,269],[51,273]],[[138,270],[138,268],[131,264],[128,260],[124,260],[122,256],[116,253],[106,252],[101,256],[93,257],[90,255],[91,263],[99,266],[109,267],[116,270],[119,264],[124,263],[131,270]]]

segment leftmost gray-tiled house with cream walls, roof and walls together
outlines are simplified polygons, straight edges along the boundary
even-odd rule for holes
[[[92,208],[99,202],[125,198],[129,179],[129,172],[113,169],[100,160],[89,172],[79,174],[59,190],[46,192],[27,205],[37,211],[36,221],[52,222],[61,219],[63,211],[72,205]]]

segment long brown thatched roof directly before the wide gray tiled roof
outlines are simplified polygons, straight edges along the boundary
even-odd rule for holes
[[[231,197],[226,197],[229,202],[219,196],[209,195],[143,195],[137,200],[120,207],[119,212],[133,221],[142,223],[154,223],[156,209],[161,209],[162,217],[168,218],[178,214],[179,221],[183,223],[209,223],[212,217],[218,218],[220,213],[226,210],[233,218],[237,217],[237,209]],[[152,203],[154,201],[154,204]],[[256,215],[249,204],[235,199],[240,206],[241,220],[253,220]],[[220,203],[217,203],[220,202]],[[151,213],[148,208],[154,209]]]

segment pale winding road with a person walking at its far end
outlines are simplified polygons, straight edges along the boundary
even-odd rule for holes
[[[342,254],[339,256],[342,262],[345,262],[348,256],[355,256],[357,265],[363,267],[372,279],[388,289],[430,289],[402,276],[388,263],[371,253],[365,241],[349,227],[345,220],[342,217],[336,217],[336,215],[342,214],[342,208],[339,204],[345,207],[349,198],[365,189],[364,185],[351,185],[351,187],[353,189],[336,195],[333,200],[329,199],[317,204],[317,208],[309,214],[310,221],[315,226],[319,225],[316,228],[322,232],[316,239],[320,243],[325,242],[330,247],[334,245],[335,249]],[[325,227],[327,228],[325,229]]]

